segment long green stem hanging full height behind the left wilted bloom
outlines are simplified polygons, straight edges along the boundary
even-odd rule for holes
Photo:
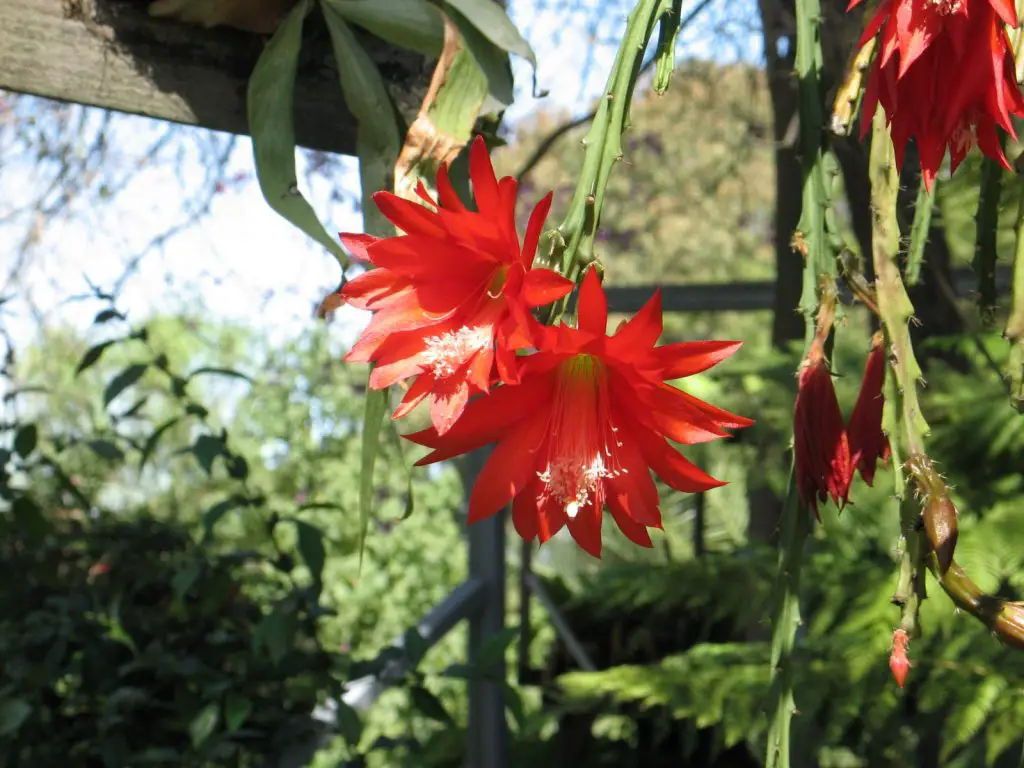
[[[800,222],[793,246],[804,257],[800,310],[806,323],[805,354],[815,336],[819,286],[824,275],[835,279],[836,259],[826,241],[825,214],[828,177],[824,164],[822,126],[821,16],[819,0],[797,0],[796,75],[800,96],[800,156],[804,172]],[[831,281],[834,284],[834,280]],[[768,700],[767,768],[790,768],[790,733],[796,699],[793,667],[800,627],[800,569],[810,532],[810,510],[797,493],[796,465],[782,509],[778,572],[772,601],[771,686]]]

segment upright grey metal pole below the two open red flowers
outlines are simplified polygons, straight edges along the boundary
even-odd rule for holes
[[[489,450],[466,457],[463,480],[467,499]],[[469,578],[483,585],[483,604],[469,620],[469,664],[477,664],[488,637],[505,628],[505,512],[469,526]],[[505,719],[505,659],[492,668],[487,680],[469,681],[466,768],[508,768],[509,730]],[[498,681],[498,682],[493,682]]]

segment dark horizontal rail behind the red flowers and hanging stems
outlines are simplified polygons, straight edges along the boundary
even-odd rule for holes
[[[1010,267],[995,270],[995,288],[999,293],[1010,290]],[[962,267],[950,274],[953,293],[959,298],[971,296],[978,285],[973,269]],[[609,286],[608,309],[612,312],[635,312],[654,293],[656,286]],[[851,295],[841,286],[840,295],[849,303]],[[662,306],[667,312],[749,312],[772,309],[775,305],[775,284],[771,281],[746,283],[693,283],[686,286],[662,286]]]

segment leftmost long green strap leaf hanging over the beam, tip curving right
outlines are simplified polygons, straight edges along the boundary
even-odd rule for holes
[[[345,264],[345,252],[302,197],[295,172],[295,76],[310,5],[311,0],[301,0],[292,9],[256,62],[249,78],[249,130],[256,177],[267,204]]]

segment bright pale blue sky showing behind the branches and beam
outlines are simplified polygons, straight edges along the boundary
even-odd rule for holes
[[[700,23],[681,36],[679,56],[760,58],[753,2],[722,5],[728,16],[715,5],[709,8]],[[601,0],[515,0],[512,7],[514,22],[537,51],[539,83],[548,95],[544,99],[531,97],[529,67],[515,61],[517,101],[507,114],[507,122],[514,123],[537,110],[571,114],[587,110],[607,77],[614,43],[624,29],[625,6],[609,6]],[[566,77],[566,73],[571,76]],[[29,104],[19,106],[18,115],[24,117],[31,109]],[[101,119],[98,111],[83,114],[81,108],[68,110],[69,119],[81,117],[86,124]],[[24,189],[38,189],[42,183],[34,158],[12,158],[10,152],[4,152],[3,130],[8,131],[9,139],[14,117],[0,104],[0,157],[5,161],[0,178],[0,222],[16,207]],[[143,118],[115,116],[111,130],[112,143],[118,147],[111,162],[130,166],[165,126]],[[14,286],[0,285],[0,295],[18,296],[4,307],[3,321],[16,344],[31,343],[40,321],[85,328],[97,305],[69,299],[87,293],[90,281],[110,288],[123,273],[130,254],[182,218],[183,197],[209,193],[216,179],[207,176],[206,161],[227,140],[222,134],[181,129],[161,151],[158,162],[135,173],[108,204],[92,207],[83,203],[72,207],[72,216],[34,222],[38,242],[20,281]],[[251,172],[252,146],[241,137],[223,177],[225,188],[213,196],[209,215],[147,253],[124,285],[123,309],[137,321],[153,311],[191,306],[244,322],[272,339],[297,333],[312,322],[315,302],[337,285],[338,266],[322,248],[267,208]],[[239,181],[232,183],[236,178]],[[316,178],[304,191],[330,231],[358,230],[360,217],[350,202],[357,196],[357,187],[355,161],[345,158],[330,183]],[[337,190],[344,198],[341,202],[332,201],[332,193]],[[20,226],[0,224],[0,254],[7,254],[0,256],[0,264],[13,259],[14,247],[25,232],[24,217],[22,221]],[[6,272],[6,268],[0,269],[0,280]],[[30,304],[41,308],[42,314],[34,315]],[[341,337],[350,339],[362,322],[360,313],[342,310],[335,328]]]

